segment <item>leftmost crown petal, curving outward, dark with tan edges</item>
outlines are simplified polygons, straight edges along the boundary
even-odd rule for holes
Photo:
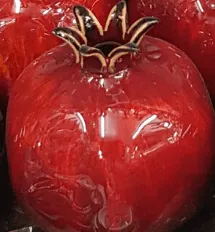
[[[68,43],[76,56],[76,63],[80,62],[79,49],[81,45],[87,44],[87,38],[76,28],[58,27],[52,32],[58,38]]]

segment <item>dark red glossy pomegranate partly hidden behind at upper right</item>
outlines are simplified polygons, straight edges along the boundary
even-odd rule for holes
[[[159,17],[151,35],[164,39],[188,54],[203,75],[215,101],[214,0],[129,0],[130,20]]]

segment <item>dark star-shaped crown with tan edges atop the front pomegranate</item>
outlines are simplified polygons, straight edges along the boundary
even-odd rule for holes
[[[53,34],[72,47],[76,63],[80,63],[81,68],[84,68],[84,59],[96,58],[101,73],[114,73],[119,58],[126,55],[132,57],[139,53],[139,44],[144,35],[159,22],[155,17],[143,17],[128,27],[125,0],[121,0],[111,9],[104,28],[96,16],[84,6],[75,5],[73,12],[76,25],[71,28],[58,27],[53,30]],[[116,36],[117,33],[120,38]]]

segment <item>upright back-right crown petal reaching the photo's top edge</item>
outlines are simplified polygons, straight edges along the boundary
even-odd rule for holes
[[[124,40],[127,31],[127,4],[125,0],[121,0],[110,11],[104,29],[105,32],[109,30],[111,23],[114,23],[116,29],[122,32],[122,39]]]

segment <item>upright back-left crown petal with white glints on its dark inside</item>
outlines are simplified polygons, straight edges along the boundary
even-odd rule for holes
[[[100,36],[104,35],[102,25],[89,9],[86,9],[80,5],[76,5],[73,11],[78,29],[83,35],[89,38],[91,34],[95,34],[95,31],[97,31]]]

